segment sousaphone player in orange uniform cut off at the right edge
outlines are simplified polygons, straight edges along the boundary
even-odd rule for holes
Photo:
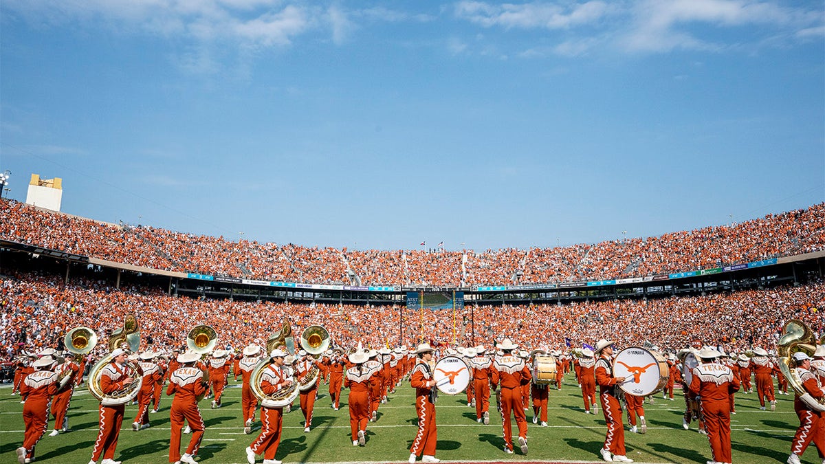
[[[821,347],[822,345],[820,345]],[[816,399],[825,396],[823,385],[810,371],[812,358],[801,351],[794,353],[793,357],[796,372],[799,374],[799,380],[802,381],[804,390]],[[825,419],[823,419],[823,413],[811,410],[810,406],[799,400],[798,393],[794,394],[794,410],[796,415],[799,416],[799,428],[796,429],[794,440],[791,442],[788,464],[800,464],[799,457],[804,454],[811,441],[817,447],[819,458],[825,462],[825,424],[823,424]]]

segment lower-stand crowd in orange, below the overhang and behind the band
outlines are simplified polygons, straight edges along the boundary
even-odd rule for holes
[[[343,347],[359,341],[372,348],[412,347],[421,339],[442,346],[489,346],[507,336],[527,347],[564,349],[566,342],[581,346],[610,338],[620,346],[649,341],[671,351],[700,339],[741,352],[752,347],[774,349],[782,324],[791,318],[825,333],[825,318],[818,310],[823,307],[823,282],[648,301],[467,306],[454,314],[396,306],[195,299],[145,287],[118,290],[82,277],[64,285],[58,277],[26,273],[6,275],[0,282],[0,345],[7,359],[23,350],[62,348],[64,334],[78,326],[95,329],[105,340],[131,312],[141,324],[144,343],[155,350],[184,345],[185,334],[197,324],[213,326],[224,348],[263,345],[272,328],[289,319],[295,334],[321,324],[330,330],[333,343]]]

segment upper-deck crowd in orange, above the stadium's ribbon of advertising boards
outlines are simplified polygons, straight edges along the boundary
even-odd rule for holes
[[[0,238],[119,263],[281,282],[473,286],[582,282],[719,268],[825,249],[825,203],[657,237],[475,252],[237,242],[115,225],[3,199]],[[351,279],[355,277],[355,279]]]

